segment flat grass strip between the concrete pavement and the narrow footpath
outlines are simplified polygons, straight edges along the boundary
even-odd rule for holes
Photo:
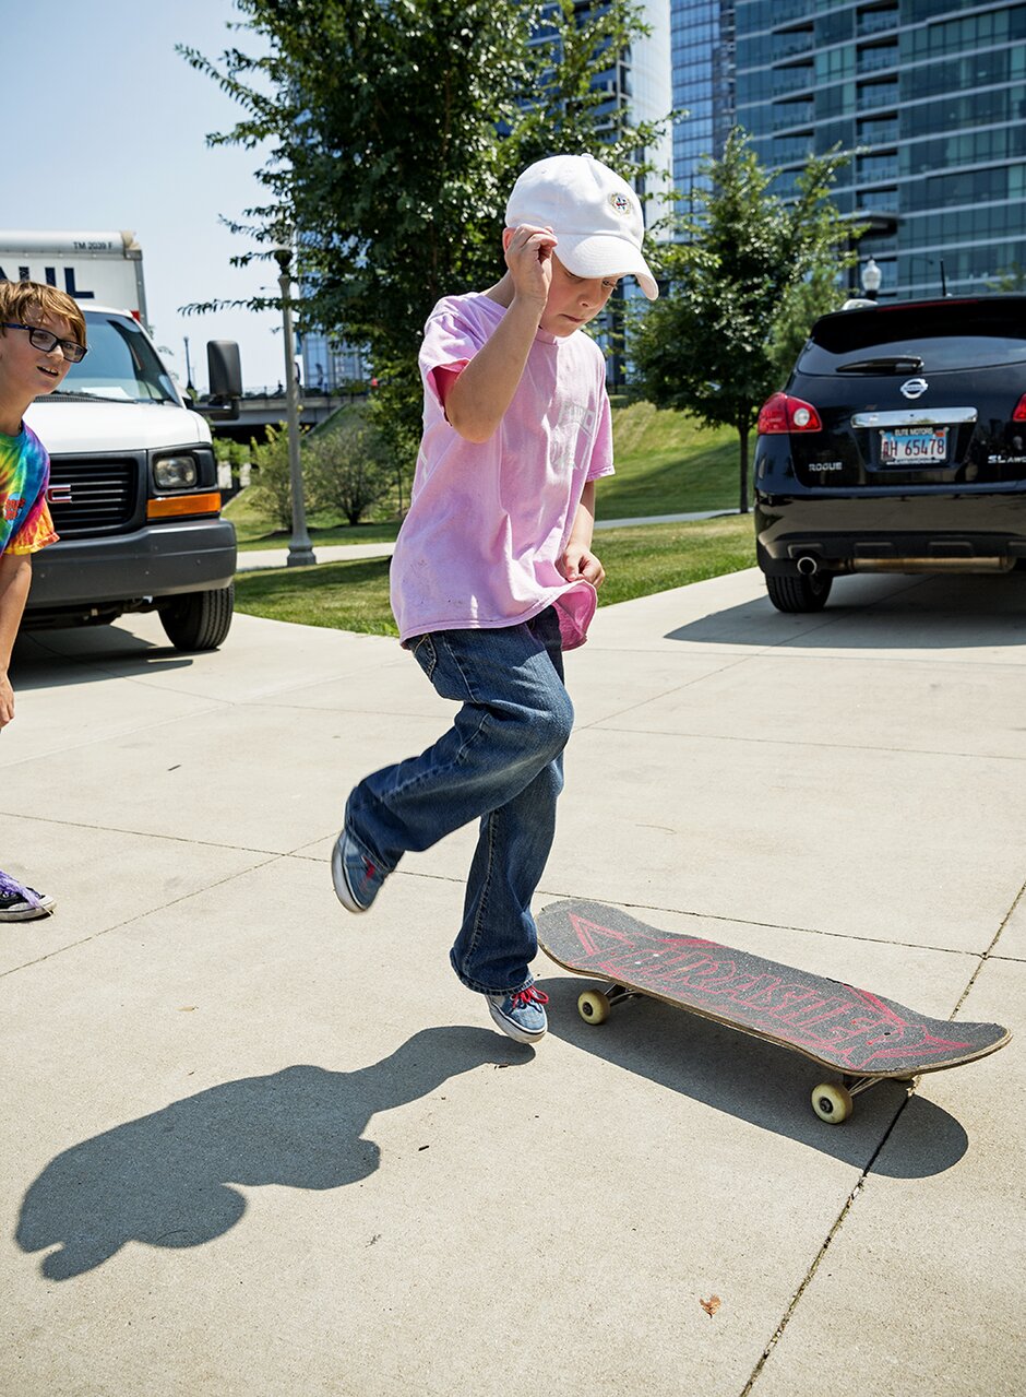
[[[595,552],[606,567],[599,605],[610,606],[752,567],[755,536],[751,515],[731,514],[687,524],[602,529],[595,536]],[[374,557],[240,573],[235,581],[236,609],[302,626],[395,636],[388,564],[389,559]]]

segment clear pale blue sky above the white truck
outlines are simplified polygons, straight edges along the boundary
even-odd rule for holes
[[[133,229],[154,338],[183,384],[188,338],[201,391],[208,339],[237,341],[247,388],[285,372],[278,312],[179,313],[276,293],[275,264],[230,265],[251,244],[219,221],[264,201],[261,152],[205,144],[243,109],[174,52],[258,53],[255,36],[226,27],[239,20],[233,0],[0,0],[0,229]]]

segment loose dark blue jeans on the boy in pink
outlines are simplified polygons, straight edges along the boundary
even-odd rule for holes
[[[558,617],[550,606],[519,626],[433,631],[410,650],[443,698],[462,707],[419,757],[355,788],[346,828],[371,863],[391,873],[408,849],[427,849],[480,820],[449,958],[468,989],[515,993],[532,983],[530,898],[553,844],[563,749],[574,725]]]

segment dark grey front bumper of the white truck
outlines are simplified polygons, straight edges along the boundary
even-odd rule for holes
[[[235,577],[235,525],[228,520],[154,524],[133,534],[74,538],[32,556],[32,612],[78,610],[228,587]]]

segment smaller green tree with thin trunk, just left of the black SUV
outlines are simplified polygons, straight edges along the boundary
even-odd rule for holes
[[[741,513],[748,510],[748,437],[759,407],[779,388],[812,320],[845,299],[843,271],[861,229],[829,200],[846,156],[810,158],[790,201],[771,193],[738,127],[709,159],[699,210],[664,249],[664,295],[631,339],[646,395],[738,436]]]

